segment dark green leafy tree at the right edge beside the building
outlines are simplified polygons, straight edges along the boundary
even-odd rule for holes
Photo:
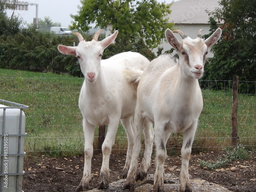
[[[256,1],[221,0],[219,4],[221,8],[208,11],[208,14],[211,33],[218,27],[216,20],[224,21],[222,37],[211,49],[214,58],[206,66],[204,77],[232,79],[233,75],[239,75],[240,80],[255,81]]]

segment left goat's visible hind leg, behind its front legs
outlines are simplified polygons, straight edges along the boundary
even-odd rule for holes
[[[122,177],[123,179],[127,177],[128,170],[130,167],[131,163],[131,158],[132,158],[132,150],[133,150],[133,145],[134,145],[134,123],[133,123],[133,117],[127,117],[124,119],[121,119],[122,125],[124,127],[124,130],[127,135],[127,140],[128,140],[128,148],[127,148],[127,153],[126,153],[126,160],[125,160],[125,165],[123,167],[123,173]]]

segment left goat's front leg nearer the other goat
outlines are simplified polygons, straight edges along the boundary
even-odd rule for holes
[[[110,123],[108,124],[108,132],[102,144],[102,166],[100,170],[100,177],[98,183],[98,189],[109,188],[109,175],[110,175],[110,153],[112,145],[115,142],[116,132],[119,124],[119,117],[110,117]]]

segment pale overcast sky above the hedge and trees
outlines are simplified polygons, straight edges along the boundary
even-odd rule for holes
[[[53,22],[61,23],[61,26],[68,27],[71,25],[72,18],[70,14],[76,15],[80,0],[20,0],[19,2],[28,2],[29,4],[38,4],[38,18],[44,19],[49,16]],[[157,0],[158,2],[164,2]],[[176,0],[177,1],[177,0]],[[171,3],[173,0],[165,0],[166,3]],[[8,16],[11,16],[12,11],[7,10]],[[15,10],[15,15],[22,17],[28,24],[33,23],[33,18],[36,15],[36,6],[29,5],[28,11]]]

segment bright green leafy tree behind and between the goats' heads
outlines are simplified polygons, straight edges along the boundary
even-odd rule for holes
[[[117,41],[125,40],[124,47],[144,39],[146,47],[155,48],[164,38],[165,29],[174,26],[165,17],[171,4],[156,0],[81,0],[81,4],[78,14],[71,15],[74,19],[71,29],[87,32],[92,24],[102,29],[111,24],[112,32],[119,31]]]

